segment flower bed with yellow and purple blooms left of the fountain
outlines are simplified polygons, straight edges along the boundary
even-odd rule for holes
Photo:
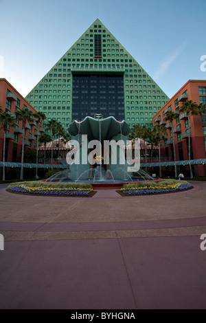
[[[44,195],[44,196],[61,196],[61,197],[92,197],[95,192],[93,188],[76,188],[76,187],[52,187],[49,186],[30,186],[28,183],[17,183],[16,186],[9,186],[8,192],[19,194],[32,194],[32,195]]]

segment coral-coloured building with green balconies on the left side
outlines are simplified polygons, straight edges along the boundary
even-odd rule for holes
[[[0,106],[3,111],[15,116],[16,110],[27,107],[36,113],[32,105],[21,96],[21,94],[12,87],[8,80],[0,78]],[[44,132],[43,122],[40,124],[39,135]],[[21,142],[23,136],[22,121],[16,121],[15,127],[8,127],[6,131],[5,142],[5,161],[21,162]],[[35,120],[26,124],[25,128],[25,151],[29,148],[36,148],[37,129]],[[3,130],[0,131],[0,161],[3,158]]]

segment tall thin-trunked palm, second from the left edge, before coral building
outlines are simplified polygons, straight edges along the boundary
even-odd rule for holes
[[[23,179],[23,157],[24,157],[24,142],[25,142],[25,125],[26,122],[32,122],[33,113],[28,108],[23,108],[22,110],[16,111],[16,119],[22,121],[23,138],[22,138],[22,148],[21,148],[21,173],[20,179]]]

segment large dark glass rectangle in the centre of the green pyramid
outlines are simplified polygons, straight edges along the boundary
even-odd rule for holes
[[[72,119],[83,120],[96,113],[124,120],[122,75],[73,74]]]

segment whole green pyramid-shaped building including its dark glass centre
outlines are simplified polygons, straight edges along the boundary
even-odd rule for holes
[[[72,120],[102,113],[130,126],[152,126],[169,100],[99,19],[26,96],[26,100],[67,129]]]

